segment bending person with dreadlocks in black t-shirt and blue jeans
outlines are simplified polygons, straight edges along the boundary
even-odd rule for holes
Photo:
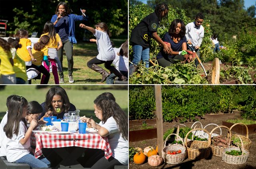
[[[157,28],[164,26],[168,20],[169,8],[166,4],[158,4],[155,12],[146,16],[133,30],[130,42],[133,50],[132,63],[129,66],[129,76],[136,71],[136,66],[142,60],[149,67],[149,44],[153,37],[163,46],[164,52],[169,53],[170,47],[157,34]]]

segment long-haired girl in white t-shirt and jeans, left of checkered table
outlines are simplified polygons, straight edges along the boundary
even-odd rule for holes
[[[28,101],[22,96],[13,96],[8,103],[7,122],[4,132],[7,137],[6,158],[10,163],[27,163],[33,168],[48,168],[50,161],[45,157],[36,159],[30,152],[30,136],[37,126],[36,119],[26,126]]]

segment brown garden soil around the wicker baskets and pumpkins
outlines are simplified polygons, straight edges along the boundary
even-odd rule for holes
[[[230,118],[232,119],[232,118]],[[227,118],[208,118],[208,119],[201,119],[199,120],[203,127],[206,126],[207,124],[210,123],[214,123],[214,124],[218,124],[218,125],[222,125],[222,121],[226,121],[228,120]],[[183,123],[185,124],[187,127],[191,127],[192,124],[194,122],[186,122]],[[173,128],[175,124],[179,124],[178,122],[164,122],[163,123],[163,128],[164,128],[164,132],[166,132],[166,130]],[[132,130],[132,128],[136,128],[136,126],[129,126],[129,130]],[[208,130],[209,132],[214,128],[214,126],[208,126],[206,128],[206,130]],[[226,136],[225,134],[227,134],[226,129],[222,128],[222,135]],[[214,131],[214,133],[219,134],[219,130],[216,129]],[[232,132],[233,134],[234,132]],[[162,165],[160,165],[159,167],[151,167],[147,162],[145,162],[142,165],[136,165],[133,162],[129,163],[129,169],[256,169],[256,134],[250,134],[249,135],[249,139],[252,141],[251,147],[250,147],[250,153],[249,153],[249,157],[248,160],[246,161],[246,163],[242,164],[242,165],[231,165],[228,163],[225,163],[224,161],[222,161],[222,157],[219,156],[215,156],[212,155],[212,153],[210,154],[210,156],[207,159],[201,159],[201,160],[192,160],[192,159],[188,159],[186,157],[186,159],[180,163],[180,164],[176,164],[176,165],[172,165],[172,164],[166,164],[163,163]],[[143,141],[135,141],[135,142],[129,142],[129,147],[141,147],[142,149],[144,149],[144,147],[147,146],[153,146],[156,147],[157,145],[157,138],[154,139],[149,139],[149,140],[143,140]]]

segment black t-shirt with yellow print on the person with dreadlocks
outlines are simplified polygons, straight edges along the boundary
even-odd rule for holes
[[[158,17],[156,13],[146,16],[133,30],[130,42],[149,48],[152,33],[157,32]]]

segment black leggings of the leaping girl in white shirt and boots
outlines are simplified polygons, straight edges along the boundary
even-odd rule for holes
[[[110,70],[112,73],[114,73],[117,77],[122,77],[122,73],[120,73],[118,70],[116,70],[116,68],[114,66],[112,66],[113,60],[112,61],[102,61],[97,59],[97,57],[92,58],[90,61],[87,62],[87,66],[92,69],[92,65],[96,64],[102,64],[104,63],[104,66],[106,67],[106,69]]]

